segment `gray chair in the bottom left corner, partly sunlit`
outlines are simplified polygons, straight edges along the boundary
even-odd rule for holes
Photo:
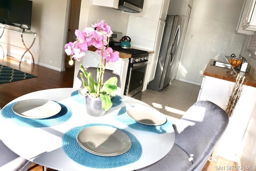
[[[0,171],[27,171],[31,165],[31,161],[12,152],[0,140]]]

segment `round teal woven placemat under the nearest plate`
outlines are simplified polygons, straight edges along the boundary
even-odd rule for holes
[[[77,134],[82,129],[90,126],[95,126],[95,125],[106,125],[110,127],[115,127],[113,125],[108,125],[108,124],[92,123],[92,124],[87,124],[80,127],[74,127],[68,130],[66,133],[64,133],[62,137],[62,149],[64,150],[66,155],[68,155],[68,157],[70,157],[72,160],[74,160],[76,163],[79,163],[80,165],[93,167],[93,168],[120,167],[120,166],[133,163],[138,159],[140,159],[142,155],[142,147],[140,145],[140,142],[134,135],[132,135],[132,133],[124,129],[120,129],[120,130],[124,131],[132,141],[132,147],[124,154],[121,154],[118,156],[112,156],[112,157],[105,157],[105,156],[94,155],[82,149],[82,147],[80,147],[76,141]]]

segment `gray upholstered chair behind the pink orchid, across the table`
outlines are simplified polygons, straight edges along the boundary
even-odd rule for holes
[[[92,78],[94,80],[96,80],[97,68],[96,67],[84,67],[84,68],[87,72],[92,72]],[[79,72],[76,75],[75,81],[74,81],[74,85],[73,85],[74,88],[83,88],[84,87],[83,83],[82,83],[82,79],[80,77],[80,73],[81,73],[81,71],[79,70]],[[118,80],[117,87],[118,87],[118,92],[119,92],[120,91],[120,76],[112,70],[105,69],[103,82],[106,82],[111,77],[117,77],[117,80]]]

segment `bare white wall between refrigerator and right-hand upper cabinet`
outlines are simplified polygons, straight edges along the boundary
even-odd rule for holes
[[[242,0],[194,0],[176,79],[201,84],[211,58],[239,55],[244,36],[235,33]]]

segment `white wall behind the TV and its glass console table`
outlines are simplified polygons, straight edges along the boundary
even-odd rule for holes
[[[37,37],[30,51],[34,56],[35,64],[61,70],[66,8],[67,0],[33,0],[31,30],[36,32]],[[20,34],[12,31],[5,31],[4,34],[1,42],[15,45],[4,46],[8,55],[20,59],[25,52],[24,49],[16,47],[23,47]],[[33,36],[24,34],[26,46],[30,46]],[[25,59],[31,60],[29,53],[26,53]]]

